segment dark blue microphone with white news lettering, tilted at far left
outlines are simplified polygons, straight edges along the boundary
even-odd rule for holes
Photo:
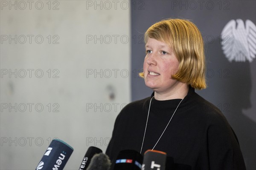
[[[63,170],[73,150],[64,141],[53,139],[36,170]]]

